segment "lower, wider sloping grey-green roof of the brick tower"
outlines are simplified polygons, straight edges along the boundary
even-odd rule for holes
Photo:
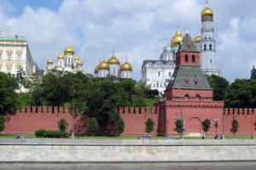
[[[204,72],[197,66],[178,66],[167,89],[211,89]]]

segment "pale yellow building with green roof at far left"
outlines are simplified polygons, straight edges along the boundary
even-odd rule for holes
[[[0,71],[16,75],[22,69],[25,77],[32,77],[34,61],[28,42],[19,35],[0,35]]]

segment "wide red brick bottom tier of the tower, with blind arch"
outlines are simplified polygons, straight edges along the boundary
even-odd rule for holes
[[[201,123],[207,118],[214,124],[218,119],[218,133],[222,129],[223,102],[167,102],[167,134],[176,135],[175,121],[178,118],[184,119],[185,134],[202,134]],[[208,134],[214,135],[216,129],[210,128]]]

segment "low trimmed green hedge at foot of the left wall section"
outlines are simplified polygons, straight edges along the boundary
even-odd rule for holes
[[[63,137],[68,137],[67,133],[63,133],[60,131],[56,130],[36,130],[35,131],[35,136],[36,137],[47,137],[47,138],[63,138]]]

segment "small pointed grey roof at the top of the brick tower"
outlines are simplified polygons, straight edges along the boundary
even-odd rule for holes
[[[190,34],[186,33],[186,35],[183,37],[179,52],[200,52],[197,46],[194,44]]]

